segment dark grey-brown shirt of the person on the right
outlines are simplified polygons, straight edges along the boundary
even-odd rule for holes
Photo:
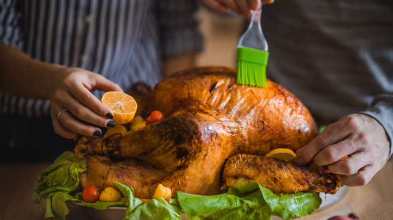
[[[264,6],[262,29],[268,77],[319,124],[362,111],[393,142],[393,1],[276,1]]]

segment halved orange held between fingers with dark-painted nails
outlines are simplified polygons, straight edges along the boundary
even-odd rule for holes
[[[105,92],[101,102],[112,109],[113,121],[118,125],[124,125],[133,120],[138,108],[133,96],[119,91]]]

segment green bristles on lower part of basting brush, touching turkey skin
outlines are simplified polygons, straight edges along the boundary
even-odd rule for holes
[[[237,83],[242,85],[268,87],[266,81],[266,65],[238,60]]]

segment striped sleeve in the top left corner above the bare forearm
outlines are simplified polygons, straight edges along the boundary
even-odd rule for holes
[[[19,24],[21,14],[16,0],[0,0],[0,44],[22,49],[22,32]]]

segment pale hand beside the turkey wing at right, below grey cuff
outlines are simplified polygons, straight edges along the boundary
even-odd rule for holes
[[[326,127],[315,139],[297,151],[295,161],[304,165],[314,159],[347,186],[367,184],[383,167],[390,143],[381,124],[363,114],[351,114]],[[340,158],[348,158],[339,161]],[[356,171],[359,171],[356,174]],[[353,175],[351,175],[353,174]]]

